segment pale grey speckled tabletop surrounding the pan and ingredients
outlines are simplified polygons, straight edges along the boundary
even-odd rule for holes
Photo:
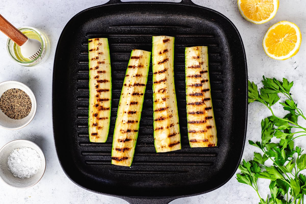
[[[166,1],[166,0],[164,0]],[[194,3],[215,9],[228,17],[238,28],[244,42],[248,63],[249,80],[259,83],[262,76],[286,77],[294,80],[292,88],[293,97],[299,107],[306,112],[306,4],[304,0],[280,1],[279,9],[271,21],[266,24],[256,25],[243,19],[240,15],[236,0],[192,0]],[[26,68],[14,63],[6,52],[7,37],[0,33],[0,82],[6,80],[17,80],[28,85],[37,98],[37,113],[34,120],[25,128],[20,130],[0,129],[0,147],[13,139],[30,139],[37,143],[44,151],[47,159],[47,168],[42,180],[34,187],[16,190],[0,182],[0,203],[99,203],[99,204],[126,204],[120,199],[105,195],[99,195],[78,187],[65,176],[59,165],[53,140],[52,132],[52,70],[55,48],[58,38],[65,24],[76,13],[92,6],[100,5],[107,0],[1,0],[0,13],[17,28],[21,26],[32,26],[41,29],[49,37],[51,53],[47,61],[41,65]],[[172,1],[172,2],[179,2]],[[285,61],[277,61],[268,57],[262,48],[262,39],[267,29],[274,23],[288,20],[300,27],[302,33],[302,44],[299,53]],[[282,114],[279,106],[275,105],[275,113]],[[248,110],[247,138],[259,140],[260,121],[270,114],[260,104],[251,104]],[[64,135],[63,135],[64,136]],[[306,138],[297,141],[306,149]],[[256,150],[246,143],[243,158],[252,159]],[[267,196],[267,181],[262,180],[260,193],[263,198]],[[171,204],[240,204],[258,203],[256,192],[245,184],[236,181],[235,176],[228,183],[215,191],[188,198],[180,198]]]

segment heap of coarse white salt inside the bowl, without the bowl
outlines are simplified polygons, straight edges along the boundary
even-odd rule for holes
[[[41,158],[36,150],[20,147],[9,154],[7,165],[14,176],[21,179],[30,178],[41,167]]]

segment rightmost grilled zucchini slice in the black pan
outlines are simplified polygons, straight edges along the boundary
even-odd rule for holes
[[[217,129],[211,103],[206,46],[185,48],[187,128],[190,147],[217,145]]]

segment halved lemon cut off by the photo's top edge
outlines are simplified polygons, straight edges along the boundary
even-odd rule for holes
[[[238,0],[241,15],[255,24],[263,24],[274,18],[278,0]]]

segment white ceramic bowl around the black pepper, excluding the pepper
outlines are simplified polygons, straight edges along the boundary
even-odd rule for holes
[[[0,97],[5,91],[11,88],[17,88],[23,90],[26,94],[28,94],[32,102],[32,108],[28,116],[19,120],[9,118],[0,109],[0,127],[16,130],[23,128],[33,120],[37,109],[37,102],[32,90],[29,87],[27,87],[25,84],[18,81],[4,81],[0,83]]]

